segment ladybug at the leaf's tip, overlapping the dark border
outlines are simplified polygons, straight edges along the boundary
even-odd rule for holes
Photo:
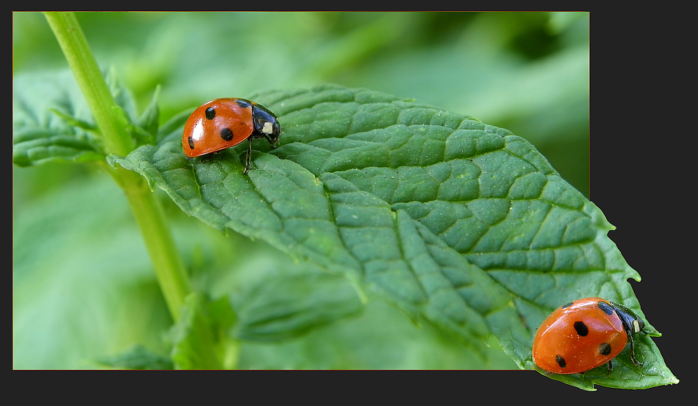
[[[645,323],[625,306],[589,297],[556,309],[541,324],[533,339],[533,361],[556,374],[584,373],[608,365],[630,341],[630,359],[637,362],[632,334]]]

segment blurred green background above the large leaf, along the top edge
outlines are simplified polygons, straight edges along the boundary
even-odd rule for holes
[[[80,13],[97,60],[161,121],[218,97],[327,82],[511,130],[588,196],[588,13]],[[66,66],[40,13],[13,13],[13,73]]]

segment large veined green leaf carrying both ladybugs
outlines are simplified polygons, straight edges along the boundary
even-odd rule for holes
[[[476,351],[494,333],[521,368],[533,368],[533,335],[561,303],[602,296],[644,317],[627,282],[639,275],[607,238],[613,226],[521,137],[366,89],[253,100],[276,112],[282,134],[273,151],[254,144],[247,175],[244,145],[188,160],[181,127],[168,125],[158,145],[110,162],[190,216],[339,273]],[[640,341],[639,354],[658,353]],[[663,363],[652,368],[671,383]]]

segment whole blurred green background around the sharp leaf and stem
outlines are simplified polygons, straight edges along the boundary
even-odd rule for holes
[[[141,109],[161,85],[161,122],[213,98],[263,89],[366,87],[507,128],[588,196],[588,13],[80,13],[78,20],[99,63],[115,68]],[[43,15],[13,13],[13,75],[65,66]],[[163,204],[195,283],[211,292],[221,284],[254,290],[279,273],[285,259],[266,244],[222,236],[167,198]],[[240,262],[243,252],[259,255]],[[126,200],[92,167],[13,167],[13,271],[14,368],[97,366],[98,357],[134,343],[167,353],[162,337],[171,321]],[[366,341],[374,345],[359,344]],[[242,368],[514,368],[496,350],[482,359],[429,326],[416,331],[381,303],[304,339],[247,344],[240,354]]]

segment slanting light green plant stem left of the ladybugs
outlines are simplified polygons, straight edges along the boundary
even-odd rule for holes
[[[75,14],[45,13],[45,16],[94,115],[103,137],[105,153],[126,156],[134,148],[133,140],[119,120],[119,107],[89,49]],[[106,164],[103,167],[128,197],[170,315],[177,321],[184,299],[191,293],[191,286],[163,210],[140,175],[120,167],[113,168]]]

